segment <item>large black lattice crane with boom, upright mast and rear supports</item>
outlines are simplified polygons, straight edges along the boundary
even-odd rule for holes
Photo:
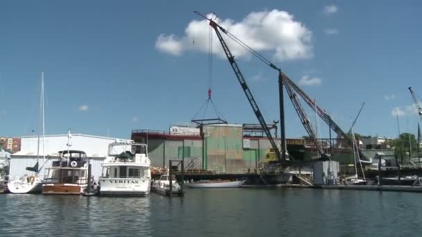
[[[321,119],[323,119],[324,122],[326,122],[330,129],[334,130],[340,139],[350,139],[346,136],[346,133],[339,128],[339,126],[332,121],[330,116],[320,107],[316,106],[314,103],[314,100],[312,100],[305,92],[299,88],[292,80],[285,75],[285,73],[282,73],[281,69],[276,67],[275,64],[273,64],[271,61],[267,60],[264,56],[262,56],[257,51],[253,50],[250,46],[239,40],[235,35],[228,32],[228,30],[224,29],[223,27],[219,26],[217,22],[215,22],[212,17],[208,18],[205,15],[201,14],[200,12],[196,12],[196,14],[200,15],[204,19],[207,19],[210,21],[210,26],[214,29],[215,33],[217,34],[217,37],[219,38],[219,42],[221,46],[223,47],[223,51],[226,54],[228,58],[228,62],[230,63],[230,66],[233,68],[233,71],[235,71],[235,75],[237,77],[237,80],[239,80],[240,85],[242,86],[242,89],[244,90],[244,93],[246,95],[246,98],[248,98],[249,103],[251,104],[251,107],[253,108],[253,112],[255,113],[255,116],[257,117],[258,121],[260,122],[260,125],[262,126],[262,129],[264,130],[265,134],[267,135],[270,143],[271,143],[271,152],[275,152],[275,155],[277,157],[277,161],[285,161],[286,160],[286,143],[285,143],[285,119],[284,119],[284,100],[283,100],[283,85],[285,85],[287,94],[289,94],[289,98],[292,101],[292,104],[294,106],[294,109],[296,110],[299,118],[301,119],[301,123],[303,124],[303,127],[305,128],[307,134],[312,138],[314,141],[314,144],[316,146],[316,149],[319,150],[319,153],[321,154],[321,157],[328,158],[328,155],[325,154],[323,151],[321,143],[319,143],[318,139],[316,138],[316,132],[314,132],[314,129],[312,128],[312,124],[310,123],[310,119],[307,118],[307,114],[305,113],[305,110],[301,106],[300,101],[298,100],[298,96],[301,96],[303,100],[305,100],[305,103],[309,105],[316,114],[318,114]],[[249,89],[248,85],[246,84],[246,80],[244,79],[244,76],[242,75],[242,72],[240,71],[239,67],[237,66],[237,63],[235,62],[235,57],[230,52],[230,49],[228,49],[228,46],[226,42],[223,40],[223,37],[221,36],[221,32],[223,32],[225,35],[230,37],[232,40],[234,40],[237,44],[242,46],[244,49],[252,53],[256,58],[264,62],[264,64],[267,64],[267,66],[271,67],[272,69],[275,69],[278,71],[278,85],[279,85],[279,98],[280,98],[280,133],[281,133],[281,152],[279,148],[276,146],[276,142],[273,140],[273,137],[271,136],[271,133],[269,132],[269,128],[267,127],[267,123],[264,121],[264,117],[262,116],[262,113],[260,112],[260,109],[255,102],[255,99],[253,98],[253,95],[251,94],[251,90]],[[296,94],[297,93],[297,94]],[[350,141],[350,143],[352,143]],[[270,153],[271,153],[270,152]]]

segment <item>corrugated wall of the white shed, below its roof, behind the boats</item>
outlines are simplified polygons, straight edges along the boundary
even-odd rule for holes
[[[102,157],[93,157],[91,158],[91,172],[92,176],[94,176],[95,180],[98,180],[101,172],[102,167],[101,164],[103,164],[105,158]],[[58,157],[46,157],[46,164],[44,166],[44,160],[42,157],[40,157],[38,161],[38,165],[40,168],[40,176],[44,177],[44,167],[49,168],[51,167],[52,161],[57,161]],[[22,177],[23,175],[33,175],[34,173],[31,171],[26,170],[26,167],[33,167],[37,163],[37,157],[36,156],[24,156],[24,155],[12,155],[12,159],[10,159],[10,171],[9,176],[10,177]],[[46,175],[48,174],[48,171],[46,170]]]

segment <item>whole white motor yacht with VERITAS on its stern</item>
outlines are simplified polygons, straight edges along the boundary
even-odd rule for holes
[[[151,160],[143,143],[111,143],[100,177],[100,195],[143,196],[151,190]]]

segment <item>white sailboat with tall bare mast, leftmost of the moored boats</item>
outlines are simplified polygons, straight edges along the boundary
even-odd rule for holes
[[[42,157],[45,165],[45,150],[44,150],[44,73],[41,76],[41,96],[40,96],[40,128],[42,127]],[[40,130],[38,130],[38,144],[37,144],[37,163],[33,167],[26,167],[26,170],[32,171],[34,175],[24,175],[16,179],[9,179],[8,189],[10,193],[41,193],[42,192],[42,178],[39,176],[39,160],[40,160]]]

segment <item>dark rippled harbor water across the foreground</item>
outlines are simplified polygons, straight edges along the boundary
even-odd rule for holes
[[[421,194],[189,189],[183,198],[0,195],[1,236],[420,236]]]

